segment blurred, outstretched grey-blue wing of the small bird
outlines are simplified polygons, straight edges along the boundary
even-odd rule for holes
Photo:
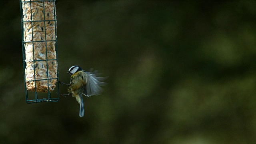
[[[101,86],[105,86],[107,84],[106,82],[102,82],[106,80],[107,77],[97,77],[99,74],[96,71],[84,71],[83,75],[86,78],[86,85],[83,90],[83,94],[85,96],[99,95],[103,91]]]

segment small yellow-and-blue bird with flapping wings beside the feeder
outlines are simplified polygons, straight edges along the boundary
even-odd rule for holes
[[[101,86],[106,85],[102,81],[106,80],[107,77],[97,77],[99,74],[96,71],[86,72],[79,66],[71,66],[68,73],[71,74],[68,95],[75,97],[80,104],[79,116],[82,117],[84,116],[83,95],[99,95],[103,91]]]

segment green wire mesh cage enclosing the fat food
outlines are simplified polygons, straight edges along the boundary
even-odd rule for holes
[[[43,20],[32,20],[32,3],[34,2],[40,2],[40,4],[43,5]],[[46,12],[45,12],[45,2],[53,2],[54,5],[54,20],[46,20]],[[30,103],[38,103],[38,102],[58,102],[60,100],[60,93],[59,93],[59,75],[58,75],[58,48],[57,48],[57,35],[56,35],[56,10],[55,10],[55,2],[56,0],[20,0],[20,13],[21,13],[21,28],[22,28],[22,55],[23,55],[23,72],[24,72],[24,84],[25,84],[25,95],[26,95],[26,103],[30,104]],[[24,14],[23,14],[23,9],[22,9],[22,5],[25,3],[30,3],[30,14],[31,14],[31,20],[26,20],[24,21]],[[54,40],[47,40],[47,36],[46,36],[46,23],[50,23],[50,22],[54,22],[54,26],[55,26],[55,38]],[[42,22],[44,23],[44,34],[45,34],[45,40],[37,40],[34,41],[33,38],[33,24],[35,24],[36,22]],[[24,23],[31,23],[31,31],[32,31],[32,41],[25,41],[24,40]],[[43,29],[43,27],[42,27]],[[56,59],[48,59],[48,52],[47,52],[47,42],[51,42],[54,41],[55,42],[55,51],[56,51]],[[27,61],[26,61],[26,52],[25,52],[25,44],[26,43],[32,43],[32,48],[33,48],[33,68],[34,68],[34,80],[29,80],[29,81],[33,81],[34,82],[34,92],[29,91],[27,86],[26,86],[26,82],[29,82],[28,80],[26,80],[26,66],[27,66]],[[35,59],[35,55],[34,55],[34,44],[36,42],[45,42],[45,46],[46,46],[46,59],[45,60],[36,60]],[[44,61],[46,62],[46,68],[47,68],[47,78],[45,79],[36,79],[36,66],[35,66],[35,62],[37,61]],[[48,73],[48,68],[49,68],[49,64],[48,62],[54,62],[56,63],[56,76],[57,78],[51,78],[49,76]],[[37,92],[36,88],[36,83],[37,81],[42,81],[42,80],[47,80],[47,92]],[[54,87],[54,90],[50,91],[50,86],[49,86],[49,82],[52,80],[57,80],[56,82],[56,87]]]

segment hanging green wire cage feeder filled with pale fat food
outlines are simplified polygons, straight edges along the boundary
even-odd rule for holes
[[[56,0],[20,0],[27,103],[58,102]]]

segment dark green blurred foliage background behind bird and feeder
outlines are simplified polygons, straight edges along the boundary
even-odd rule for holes
[[[83,118],[26,104],[19,2],[0,7],[0,143],[256,142],[256,1],[57,0],[60,80],[109,76]]]

